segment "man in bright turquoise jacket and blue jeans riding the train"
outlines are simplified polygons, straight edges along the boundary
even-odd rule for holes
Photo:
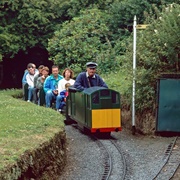
[[[59,75],[59,68],[56,65],[52,66],[52,74],[46,78],[44,82],[44,92],[46,93],[46,107],[51,106],[52,100],[56,100],[58,95],[58,82],[63,79],[63,76]]]

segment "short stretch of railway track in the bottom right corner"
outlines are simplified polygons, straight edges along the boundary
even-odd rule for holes
[[[176,137],[169,144],[163,163],[153,180],[173,179],[176,171],[180,168],[180,137]]]

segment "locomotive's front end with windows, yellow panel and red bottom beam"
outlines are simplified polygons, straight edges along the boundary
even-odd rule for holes
[[[91,132],[121,131],[120,94],[97,89],[86,97],[86,125]]]

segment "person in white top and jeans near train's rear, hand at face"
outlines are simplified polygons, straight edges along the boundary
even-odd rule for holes
[[[28,73],[26,75],[26,80],[28,84],[28,100],[27,102],[30,102],[32,100],[33,95],[33,89],[34,89],[34,77],[38,74],[37,71],[35,71],[35,66],[32,66],[29,68]]]

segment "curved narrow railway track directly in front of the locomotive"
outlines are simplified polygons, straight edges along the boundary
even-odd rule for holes
[[[121,147],[116,139],[99,139],[94,137],[104,156],[104,173],[101,180],[124,180],[127,171],[127,163]]]

